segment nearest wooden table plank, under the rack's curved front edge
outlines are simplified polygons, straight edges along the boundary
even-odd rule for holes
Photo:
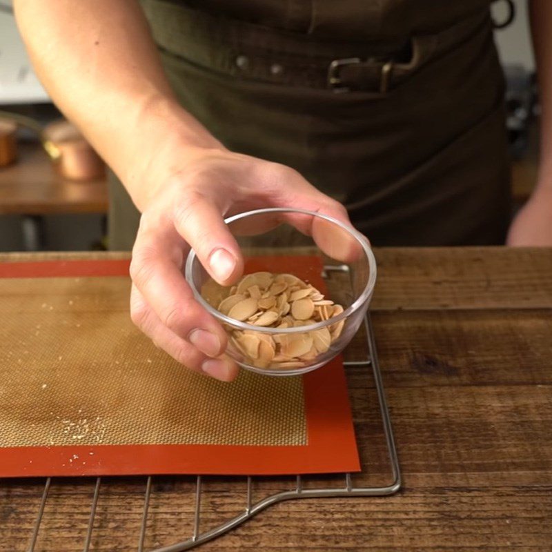
[[[100,499],[92,550],[135,550],[142,496],[136,485],[107,491]],[[204,545],[211,551],[550,551],[552,542],[552,487],[540,489],[510,484],[495,489],[466,486],[417,489],[407,486],[399,495],[380,499],[299,500],[277,504],[257,515],[239,529]],[[152,500],[159,493],[154,484]],[[110,500],[117,496],[115,502]],[[189,533],[182,515],[184,503],[152,504],[146,549],[184,540]],[[43,532],[37,542],[41,552],[77,552],[83,542],[85,509],[90,492],[82,489],[71,495],[68,504],[52,503],[45,513]],[[105,500],[103,500],[105,499]],[[237,495],[209,497],[221,513],[242,507]],[[3,538],[0,551],[26,549],[21,540]]]

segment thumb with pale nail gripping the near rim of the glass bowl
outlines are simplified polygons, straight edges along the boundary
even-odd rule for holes
[[[187,193],[175,205],[173,222],[201,265],[221,286],[233,284],[242,275],[242,253],[213,202],[200,193]]]

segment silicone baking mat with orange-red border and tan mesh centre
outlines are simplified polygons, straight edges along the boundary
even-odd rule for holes
[[[278,262],[324,288],[318,257]],[[129,290],[128,260],[0,265],[0,477],[359,470],[341,359],[217,382],[133,326]]]

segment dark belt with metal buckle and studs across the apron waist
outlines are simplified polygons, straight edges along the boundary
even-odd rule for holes
[[[157,46],[231,77],[334,92],[386,94],[489,26],[488,10],[433,33],[395,41],[328,41],[186,8],[142,0]],[[404,59],[404,52],[411,52]]]

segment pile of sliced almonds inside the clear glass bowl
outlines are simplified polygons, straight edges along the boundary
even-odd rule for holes
[[[328,320],[343,312],[311,284],[292,274],[257,272],[244,276],[230,289],[218,310],[253,326],[295,328]],[[259,368],[299,368],[325,353],[342,333],[344,320],[293,334],[263,334],[227,326],[230,346]]]

